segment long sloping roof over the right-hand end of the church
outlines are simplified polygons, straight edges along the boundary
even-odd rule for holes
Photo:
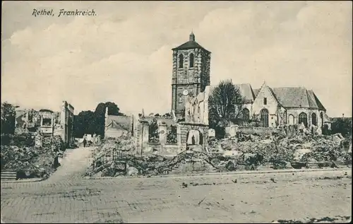
[[[325,110],[313,90],[304,87],[270,88],[283,107],[302,107]]]

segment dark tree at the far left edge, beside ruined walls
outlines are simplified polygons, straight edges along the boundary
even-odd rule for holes
[[[15,106],[8,102],[1,104],[1,134],[14,134],[16,110]]]

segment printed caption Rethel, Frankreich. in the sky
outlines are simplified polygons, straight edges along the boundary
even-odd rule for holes
[[[55,16],[56,13],[54,13],[53,9],[33,9],[32,16]],[[63,17],[63,16],[96,16],[97,14],[95,13],[94,9],[91,10],[74,10],[74,11],[68,11],[65,10],[64,8],[61,8],[59,10],[59,13],[57,13],[57,17]]]

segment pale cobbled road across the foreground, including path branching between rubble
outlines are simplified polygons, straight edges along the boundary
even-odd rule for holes
[[[4,222],[258,223],[352,217],[349,169],[82,179],[90,150],[72,151],[61,170],[44,182],[2,183]]]

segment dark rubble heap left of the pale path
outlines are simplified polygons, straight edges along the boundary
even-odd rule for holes
[[[49,177],[56,170],[57,158],[63,154],[60,136],[42,137],[41,147],[35,146],[35,135],[10,136],[1,141],[1,170],[16,170],[18,178]]]

